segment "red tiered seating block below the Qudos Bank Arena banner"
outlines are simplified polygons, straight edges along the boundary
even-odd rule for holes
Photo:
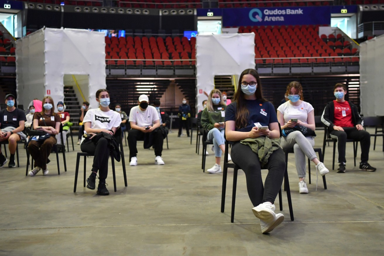
[[[256,58],[276,58],[266,59],[265,61],[257,59],[256,63],[258,64],[358,61],[358,58],[310,58],[357,55],[357,49],[354,48],[349,51],[349,42],[342,42],[341,39],[339,41],[341,45],[338,43],[338,47],[342,48],[335,48],[334,43],[332,42],[332,36],[331,39],[329,39],[326,35],[318,35],[318,26],[247,26],[239,27],[238,32],[255,33]],[[336,37],[334,38],[334,41],[337,41]]]

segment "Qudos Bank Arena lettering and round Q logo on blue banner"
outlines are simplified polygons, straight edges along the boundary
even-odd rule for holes
[[[303,9],[264,9],[263,12],[258,8],[253,8],[249,12],[249,19],[253,22],[262,21],[284,21],[282,15],[301,15],[304,14]]]

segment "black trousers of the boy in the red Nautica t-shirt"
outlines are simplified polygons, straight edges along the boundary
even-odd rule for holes
[[[345,147],[347,139],[355,139],[360,141],[361,147],[361,162],[368,161],[369,147],[371,147],[371,135],[365,130],[358,130],[356,127],[343,127],[341,130],[331,131],[331,138],[337,138],[337,149],[339,152],[339,163],[346,163]]]

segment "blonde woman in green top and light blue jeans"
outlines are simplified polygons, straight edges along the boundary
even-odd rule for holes
[[[207,141],[212,141],[214,143],[214,151],[216,157],[216,164],[207,170],[209,173],[219,173],[221,172],[220,160],[221,152],[224,152],[224,130],[225,130],[225,105],[222,94],[220,90],[213,89],[207,101],[207,107],[204,108],[201,116],[201,125],[205,130],[208,130]],[[231,158],[228,155],[228,161]]]

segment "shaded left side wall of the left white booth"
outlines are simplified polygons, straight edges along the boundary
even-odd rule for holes
[[[17,104],[25,109],[35,98],[43,99],[44,88],[44,30],[16,41],[16,93]]]

